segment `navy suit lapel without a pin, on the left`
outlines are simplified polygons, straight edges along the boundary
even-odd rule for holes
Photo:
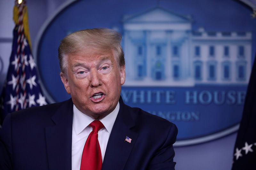
[[[54,126],[45,128],[49,169],[71,169],[73,102],[69,99],[52,116]]]

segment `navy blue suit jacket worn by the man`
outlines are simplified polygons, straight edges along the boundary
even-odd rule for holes
[[[174,169],[176,126],[119,102],[102,170]],[[72,121],[71,99],[9,114],[0,130],[0,169],[71,170]]]

